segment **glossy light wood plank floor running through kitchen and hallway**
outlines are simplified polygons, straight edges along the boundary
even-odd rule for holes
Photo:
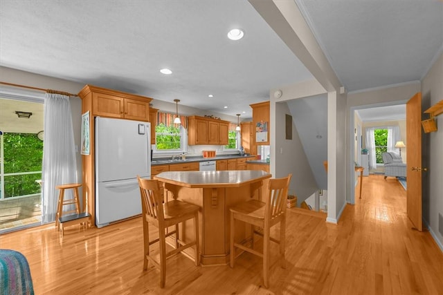
[[[179,254],[168,259],[160,289],[159,271],[142,271],[141,218],[68,227],[64,238],[53,226],[26,229],[0,236],[0,247],[28,258],[35,294],[443,293],[442,251],[428,232],[411,229],[406,192],[394,178],[364,178],[362,199],[347,205],[338,225],[301,210],[288,210],[287,268],[273,264],[269,289],[260,258],[250,254],[234,269],[195,267]]]

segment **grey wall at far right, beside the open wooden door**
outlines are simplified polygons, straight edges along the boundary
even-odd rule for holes
[[[431,106],[443,99],[443,53],[437,58],[431,70],[422,80],[422,98],[430,100]],[[428,118],[428,115],[425,116]],[[438,121],[440,120],[440,124]],[[429,231],[440,244],[443,251],[443,235],[439,232],[439,214],[443,218],[443,114],[437,116],[438,130],[425,133],[424,137],[429,144],[427,147],[429,166],[428,181],[425,191],[427,196],[423,199],[423,218]],[[443,228],[440,228],[443,231]]]

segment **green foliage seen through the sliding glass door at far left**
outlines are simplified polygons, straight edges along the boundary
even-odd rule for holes
[[[37,135],[30,133],[3,133],[4,173],[24,173],[42,171],[43,142]],[[42,173],[24,175],[6,175],[5,198],[26,196],[40,193],[35,180],[42,178]]]

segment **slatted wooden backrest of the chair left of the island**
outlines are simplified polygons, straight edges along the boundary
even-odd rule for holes
[[[156,223],[164,220],[163,197],[161,195],[161,183],[158,180],[150,180],[137,176],[140,187],[141,207],[143,216]]]

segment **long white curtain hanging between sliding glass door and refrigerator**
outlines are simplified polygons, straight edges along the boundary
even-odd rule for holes
[[[55,186],[78,182],[71,104],[66,95],[46,93],[42,165],[42,222],[55,220],[59,191]],[[66,197],[70,198],[66,191]],[[70,208],[64,208],[70,209]]]

